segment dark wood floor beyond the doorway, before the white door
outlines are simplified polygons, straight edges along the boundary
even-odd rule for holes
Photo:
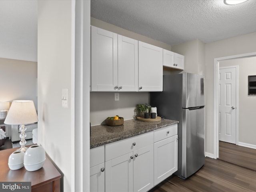
[[[219,142],[220,160],[256,171],[256,149]]]

